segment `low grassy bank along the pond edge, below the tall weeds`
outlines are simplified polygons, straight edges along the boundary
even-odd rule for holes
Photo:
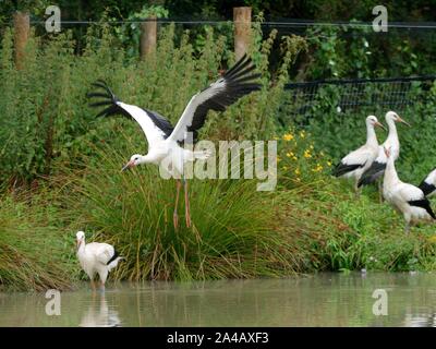
[[[111,154],[113,155],[113,154]],[[81,274],[74,233],[113,243],[126,256],[112,279],[282,277],[319,270],[432,270],[434,227],[403,232],[375,191],[354,198],[319,174],[261,194],[252,181],[191,181],[193,228],[172,226],[174,182],[143,168],[121,174],[122,156],[102,158],[34,201],[2,196],[0,282],[40,290],[73,286]],[[120,163],[121,161],[121,163]],[[45,200],[52,201],[47,206]],[[53,200],[53,196],[56,197]],[[36,197],[36,198],[35,198]],[[41,205],[43,204],[43,205]],[[60,209],[60,207],[64,207]]]

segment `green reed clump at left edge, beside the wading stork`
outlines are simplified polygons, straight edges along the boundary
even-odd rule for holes
[[[32,195],[31,195],[32,194]],[[56,212],[35,193],[0,196],[0,289],[68,289],[74,270]],[[58,219],[58,224],[60,220]]]

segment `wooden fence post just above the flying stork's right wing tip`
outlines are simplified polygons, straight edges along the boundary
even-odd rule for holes
[[[251,41],[252,8],[233,8],[234,53],[239,60],[249,51]]]

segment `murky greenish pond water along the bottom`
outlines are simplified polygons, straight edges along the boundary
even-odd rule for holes
[[[80,286],[61,293],[59,316],[46,314],[45,293],[0,293],[0,326],[436,326],[431,273]]]

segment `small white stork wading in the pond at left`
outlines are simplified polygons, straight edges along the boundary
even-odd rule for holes
[[[85,232],[77,231],[77,258],[83,270],[90,279],[90,287],[96,290],[94,277],[96,274],[100,277],[100,288],[105,290],[106,279],[111,269],[117,267],[118,262],[123,260],[119,256],[116,249],[108,243],[92,242],[86,244]]]

